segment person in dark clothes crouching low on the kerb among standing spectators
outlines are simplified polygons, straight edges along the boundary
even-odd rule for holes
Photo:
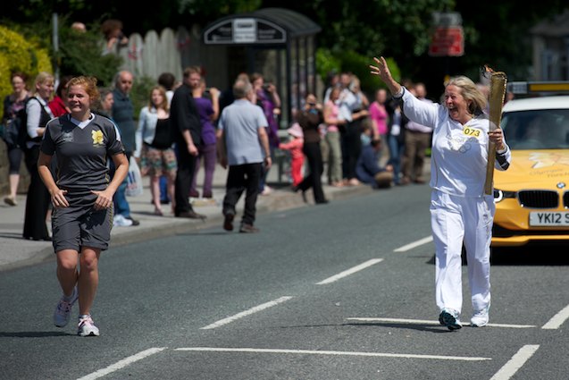
[[[373,189],[390,188],[393,182],[393,166],[386,165],[382,168],[379,165],[380,149],[381,139],[372,139],[370,144],[362,148],[356,165],[357,179],[372,185]]]

